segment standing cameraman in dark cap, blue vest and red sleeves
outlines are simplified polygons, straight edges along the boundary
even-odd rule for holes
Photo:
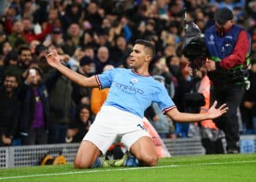
[[[246,62],[249,61],[250,36],[244,28],[235,25],[230,9],[217,9],[215,25],[206,30],[206,69],[211,80],[211,104],[227,103],[227,114],[215,119],[225,132],[227,153],[239,152],[237,108],[244,95]]]

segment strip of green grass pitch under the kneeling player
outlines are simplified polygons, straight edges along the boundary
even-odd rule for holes
[[[157,167],[75,170],[72,164],[0,169],[1,181],[256,181],[256,154],[159,159]]]

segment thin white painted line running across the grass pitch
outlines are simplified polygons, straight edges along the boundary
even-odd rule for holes
[[[237,162],[209,162],[209,163],[198,163],[192,165],[162,165],[155,167],[127,167],[127,168],[119,168],[119,169],[108,169],[108,170],[83,170],[83,171],[75,171],[75,172],[66,172],[66,173],[50,173],[50,174],[38,174],[38,175],[17,175],[17,176],[9,176],[9,177],[0,177],[0,180],[7,179],[18,179],[18,178],[34,178],[34,177],[42,177],[42,176],[51,176],[51,175],[74,175],[81,173],[105,173],[105,172],[113,172],[113,171],[127,171],[127,170],[147,170],[147,169],[158,169],[158,168],[170,168],[170,167],[186,167],[186,166],[198,166],[198,165],[227,165],[227,164],[241,164],[241,163],[254,163],[256,160],[249,161],[237,161]]]

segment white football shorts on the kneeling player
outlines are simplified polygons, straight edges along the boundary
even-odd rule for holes
[[[128,150],[141,137],[151,138],[139,116],[113,106],[102,106],[83,141],[91,141],[105,154],[117,135],[121,135],[121,143]]]

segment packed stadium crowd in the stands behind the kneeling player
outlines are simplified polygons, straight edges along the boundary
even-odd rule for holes
[[[252,37],[249,81],[241,102],[241,133],[256,134],[256,1],[245,0],[7,0],[0,6],[0,146],[79,142],[108,92],[80,87],[48,66],[57,50],[64,65],[84,76],[109,67],[128,68],[136,39],[151,41],[156,56],[150,72],[165,84],[179,111],[193,80],[181,50],[184,7],[187,22],[201,31],[214,25],[220,7],[233,11],[236,24]],[[199,86],[198,86],[199,87]],[[200,135],[195,124],[179,124],[159,111],[146,118],[162,138]],[[18,139],[18,140],[17,140]]]

